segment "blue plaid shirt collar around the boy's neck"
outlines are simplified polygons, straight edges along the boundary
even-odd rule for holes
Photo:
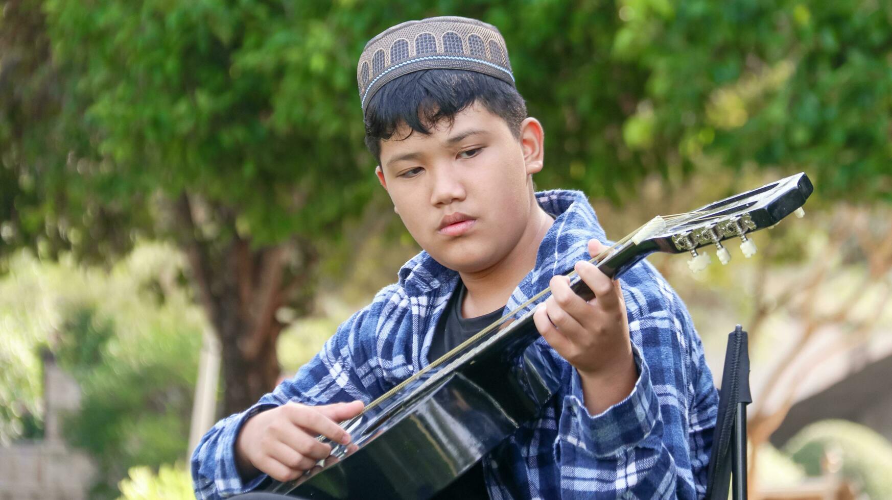
[[[550,190],[536,193],[542,209],[558,216],[539,245],[536,266],[522,283],[548,286],[551,276],[565,274],[577,260],[588,259],[588,241],[606,240],[598,216],[581,191]],[[400,268],[399,284],[411,296],[427,295],[446,283],[458,281],[458,272],[443,266],[422,250]],[[543,285],[544,283],[544,285]]]

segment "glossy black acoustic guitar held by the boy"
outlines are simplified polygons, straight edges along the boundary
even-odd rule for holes
[[[648,254],[690,253],[691,270],[710,261],[713,247],[723,264],[731,259],[723,242],[739,239],[746,257],[756,253],[747,237],[790,214],[802,217],[813,191],[804,173],[715,201],[699,209],[654,217],[604,250],[591,262],[613,278]],[[575,272],[571,288],[583,299],[591,290]],[[541,359],[526,349],[539,332],[533,312],[514,318],[537,302],[541,291],[508,315],[452,349],[341,423],[358,449],[324,438],[332,455],[298,480],[268,480],[256,498],[288,496],[417,500],[430,498],[469,470],[520,425],[537,417],[558,389]]]

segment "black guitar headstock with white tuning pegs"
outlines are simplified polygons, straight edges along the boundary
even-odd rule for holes
[[[684,214],[655,217],[632,236],[632,242],[640,252],[690,252],[688,265],[695,272],[710,261],[706,251],[697,251],[703,247],[715,247],[722,264],[731,260],[722,244],[725,240],[739,239],[740,250],[749,258],[756,254],[756,244],[747,234],[777,225],[789,214],[803,217],[802,206],[813,191],[808,176],[799,173]]]

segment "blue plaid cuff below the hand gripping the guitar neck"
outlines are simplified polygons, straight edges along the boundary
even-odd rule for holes
[[[582,403],[582,380],[573,369],[570,393],[564,398],[558,422],[559,439],[595,456],[607,457],[636,447],[648,437],[660,419],[660,405],[650,383],[648,364],[635,344],[632,344],[632,357],[638,369],[632,393],[597,415],[590,414]]]

